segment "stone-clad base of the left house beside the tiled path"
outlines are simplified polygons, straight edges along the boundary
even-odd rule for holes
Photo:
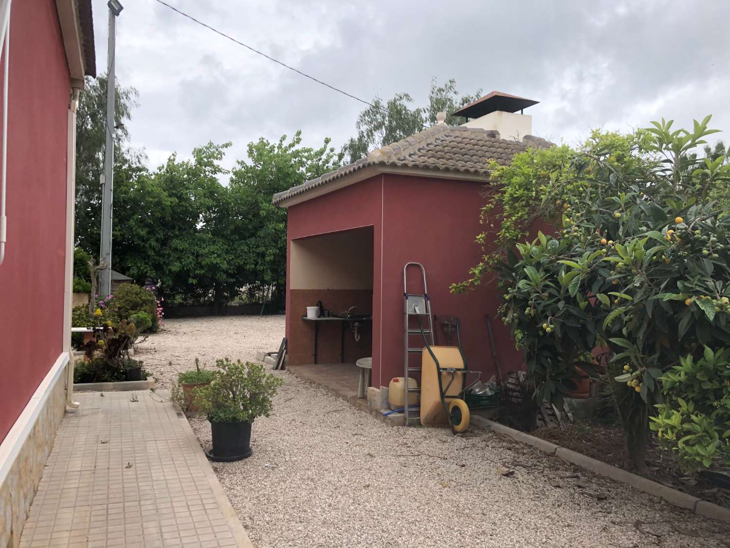
[[[69,367],[69,365],[66,365]],[[5,481],[0,485],[0,547],[18,548],[33,496],[66,408],[66,370],[58,375]]]

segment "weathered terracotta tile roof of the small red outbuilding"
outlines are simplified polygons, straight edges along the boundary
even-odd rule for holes
[[[378,148],[353,164],[325,173],[288,191],[274,194],[274,204],[377,165],[474,173],[483,178],[489,173],[490,160],[505,165],[512,160],[512,156],[526,148],[545,148],[550,145],[550,142],[532,135],[523,137],[522,142],[510,141],[500,139],[499,132],[491,130],[437,124]]]

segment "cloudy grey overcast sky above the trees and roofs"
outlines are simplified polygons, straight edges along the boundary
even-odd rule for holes
[[[183,18],[155,0],[121,0],[117,78],[139,91],[128,124],[150,167],[173,151],[303,132],[307,145],[355,133],[364,105]],[[712,114],[730,131],[730,1],[166,0],[320,80],[370,100],[431,78],[462,93],[536,99],[533,133],[574,143],[591,128],[631,129]],[[107,66],[107,5],[93,0],[96,59]],[[723,139],[725,132],[718,134]],[[730,140],[729,137],[724,137]]]

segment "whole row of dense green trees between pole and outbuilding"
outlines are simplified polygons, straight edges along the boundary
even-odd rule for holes
[[[328,143],[301,147],[299,132],[252,142],[228,186],[220,161],[230,143],[196,148],[191,161],[173,155],[153,173],[127,171],[115,192],[115,265],[159,279],[167,302],[220,308],[247,286],[283,288],[286,213],[272,197],[337,167]]]

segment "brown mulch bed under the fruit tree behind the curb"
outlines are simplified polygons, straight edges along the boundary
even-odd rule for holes
[[[536,438],[571,449],[600,460],[603,463],[626,468],[626,448],[623,433],[618,427],[603,425],[571,425],[566,428],[539,428],[531,432]],[[727,470],[726,470],[727,471]],[[637,473],[634,471],[634,473]],[[711,484],[706,479],[683,472],[672,454],[661,449],[656,441],[650,441],[647,453],[647,471],[639,473],[654,482],[673,487],[704,501],[730,508],[730,490]]]

